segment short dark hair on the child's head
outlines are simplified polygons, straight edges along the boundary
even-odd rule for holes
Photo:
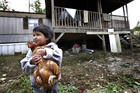
[[[46,25],[39,25],[33,29],[33,32],[41,32],[45,37],[49,38],[46,43],[50,43],[53,39],[53,30]]]

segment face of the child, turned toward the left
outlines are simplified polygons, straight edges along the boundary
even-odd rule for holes
[[[49,38],[45,37],[45,35],[39,31],[33,32],[33,41],[37,45],[45,45]]]

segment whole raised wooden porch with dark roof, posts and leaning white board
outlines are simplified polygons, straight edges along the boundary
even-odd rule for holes
[[[55,41],[67,42],[64,46],[71,46],[68,42],[74,40],[87,48],[98,45],[119,53],[120,36],[130,34],[127,4],[132,1],[45,0],[46,17],[55,32]],[[123,16],[112,14],[121,7]]]

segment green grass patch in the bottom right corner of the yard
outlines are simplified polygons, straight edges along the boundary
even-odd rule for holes
[[[125,89],[135,89],[134,93],[138,93],[140,82],[134,80],[130,76],[121,76],[116,82],[108,82],[107,84],[91,84],[92,90],[86,93],[123,93]]]

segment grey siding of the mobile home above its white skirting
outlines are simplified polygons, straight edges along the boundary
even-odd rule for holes
[[[38,19],[38,18],[36,18]],[[43,19],[43,24],[48,20]],[[19,43],[32,40],[32,29],[24,29],[23,18],[0,17],[0,43]]]

